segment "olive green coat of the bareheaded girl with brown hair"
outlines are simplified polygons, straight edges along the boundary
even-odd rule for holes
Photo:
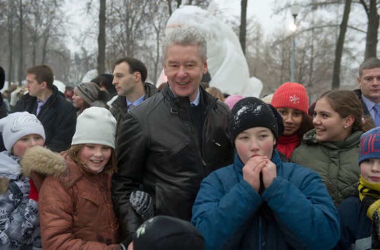
[[[357,193],[360,176],[356,131],[342,141],[318,142],[315,129],[304,134],[301,145],[294,149],[291,161],[316,171],[325,183],[335,206]]]

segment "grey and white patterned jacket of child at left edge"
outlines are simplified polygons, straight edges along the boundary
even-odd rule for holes
[[[37,201],[29,199],[29,178],[20,158],[0,153],[0,249],[41,249]]]

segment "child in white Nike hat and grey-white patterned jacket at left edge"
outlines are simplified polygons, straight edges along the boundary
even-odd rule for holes
[[[0,153],[0,249],[40,249],[37,187],[55,171],[21,165],[28,148],[44,145],[44,127],[35,115],[16,112],[0,120],[0,131],[6,149]]]

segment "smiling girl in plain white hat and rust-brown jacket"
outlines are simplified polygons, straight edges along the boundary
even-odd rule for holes
[[[105,108],[91,107],[78,116],[71,147],[61,153],[65,172],[48,176],[41,187],[44,250],[121,248],[111,199],[115,128]]]

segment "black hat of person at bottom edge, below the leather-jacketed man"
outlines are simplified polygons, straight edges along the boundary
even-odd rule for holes
[[[203,250],[203,236],[190,222],[170,216],[145,221],[133,239],[134,250]]]

